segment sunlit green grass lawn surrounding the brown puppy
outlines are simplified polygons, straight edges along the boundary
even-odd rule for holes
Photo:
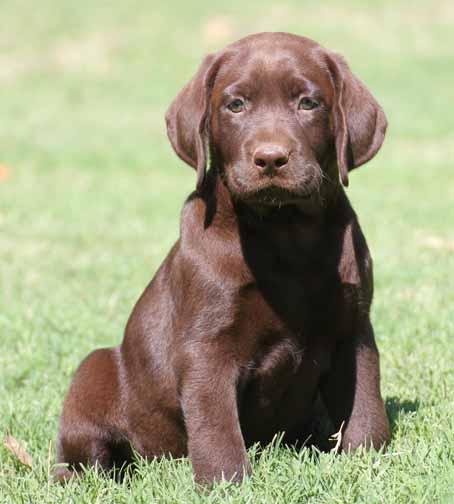
[[[0,436],[33,457],[30,470],[0,446],[0,502],[454,502],[452,1],[5,0],[0,16]],[[242,486],[203,494],[187,460],[140,461],[124,484],[93,471],[49,484],[71,375],[120,341],[194,186],[166,107],[207,51],[262,30],[342,52],[388,115],[349,195],[375,259],[392,444],[334,456],[275,443]]]

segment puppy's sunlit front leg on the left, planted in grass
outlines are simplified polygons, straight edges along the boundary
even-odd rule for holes
[[[213,344],[185,355],[180,393],[195,480],[239,482],[251,467],[237,407],[238,368]]]

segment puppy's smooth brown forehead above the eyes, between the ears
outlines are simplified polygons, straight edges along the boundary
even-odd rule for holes
[[[303,37],[276,37],[240,40],[229,46],[223,57],[215,90],[232,84],[258,86],[266,81],[291,83],[304,79],[322,90],[331,89],[324,49]]]

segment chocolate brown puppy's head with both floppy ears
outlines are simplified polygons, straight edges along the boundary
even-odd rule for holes
[[[198,188],[211,155],[232,196],[257,205],[321,201],[377,153],[387,126],[341,56],[286,33],[207,56],[166,121]]]

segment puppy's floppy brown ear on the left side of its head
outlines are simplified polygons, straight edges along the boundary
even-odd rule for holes
[[[197,73],[178,93],[166,114],[167,135],[178,156],[197,170],[197,189],[203,185],[207,164],[208,116],[211,90],[220,57],[205,57]]]

